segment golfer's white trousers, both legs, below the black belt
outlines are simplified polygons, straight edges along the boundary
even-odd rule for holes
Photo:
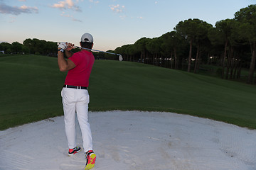
[[[75,113],[82,132],[84,151],[92,150],[92,132],[88,123],[88,103],[90,101],[88,91],[85,89],[63,88],[63,111],[65,122],[65,133],[68,139],[68,147],[76,147]]]

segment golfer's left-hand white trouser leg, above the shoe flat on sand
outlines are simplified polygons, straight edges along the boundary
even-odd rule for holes
[[[65,122],[65,133],[68,140],[68,147],[76,147],[75,134],[75,103],[73,103],[73,91],[65,89],[63,91],[63,111]]]

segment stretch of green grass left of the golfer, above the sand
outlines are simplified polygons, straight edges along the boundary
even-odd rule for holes
[[[0,57],[0,130],[61,115],[61,84],[56,58]]]

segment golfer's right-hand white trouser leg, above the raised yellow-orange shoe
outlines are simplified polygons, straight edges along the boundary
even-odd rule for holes
[[[90,124],[88,122],[88,103],[89,94],[86,90],[80,90],[81,100],[76,103],[76,111],[78,115],[78,122],[82,132],[82,142],[85,152],[92,150],[92,132],[90,129]]]

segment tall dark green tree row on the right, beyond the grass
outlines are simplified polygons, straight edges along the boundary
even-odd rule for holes
[[[256,60],[256,5],[241,8],[235,18],[215,23],[199,19],[180,21],[174,31],[159,38],[141,38],[117,47],[124,60],[198,72],[200,64],[216,64],[223,79],[240,78],[241,68],[250,69],[253,84]]]

